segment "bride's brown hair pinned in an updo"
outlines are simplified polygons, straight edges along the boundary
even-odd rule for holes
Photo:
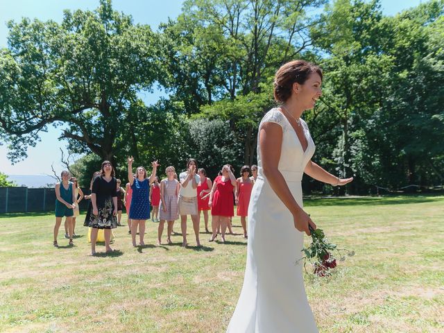
[[[293,83],[303,85],[311,73],[323,78],[321,68],[305,60],[292,60],[276,72],[273,95],[278,103],[285,103],[291,96]]]

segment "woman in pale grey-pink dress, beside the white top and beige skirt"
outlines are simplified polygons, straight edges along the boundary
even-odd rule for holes
[[[174,221],[179,219],[178,196],[180,191],[180,182],[174,178],[176,170],[169,166],[165,169],[167,178],[160,182],[160,223],[157,228],[157,245],[162,244],[162,233],[164,224],[167,221],[167,243],[171,242],[171,232],[173,232]]]

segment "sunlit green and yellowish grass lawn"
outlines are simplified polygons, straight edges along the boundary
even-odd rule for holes
[[[306,280],[320,332],[444,332],[444,196],[305,205],[327,237],[356,252],[332,277]],[[0,332],[225,332],[244,279],[239,219],[227,244],[201,233],[203,248],[193,247],[191,223],[189,248],[180,234],[155,246],[152,222],[147,246],[133,248],[119,227],[119,251],[97,257],[78,220],[76,245],[59,237],[53,248],[52,214],[0,215]]]

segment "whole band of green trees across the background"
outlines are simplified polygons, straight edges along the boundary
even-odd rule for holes
[[[304,58],[325,74],[321,101],[304,114],[316,162],[355,176],[350,193],[442,185],[443,14],[444,0],[394,17],[377,0],[187,0],[154,33],[102,0],[62,24],[9,22],[0,136],[17,160],[40,130],[65,124],[72,151],[117,162],[123,178],[126,155],[179,171],[195,157],[214,177],[224,163],[256,162],[273,75]],[[169,96],[145,105],[137,92],[153,83]]]

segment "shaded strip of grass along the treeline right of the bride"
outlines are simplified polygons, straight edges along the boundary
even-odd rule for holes
[[[368,197],[323,197],[323,198],[304,198],[304,205],[313,206],[374,206],[374,205],[400,205],[409,203],[434,203],[443,201],[443,198],[437,196],[368,196]]]

